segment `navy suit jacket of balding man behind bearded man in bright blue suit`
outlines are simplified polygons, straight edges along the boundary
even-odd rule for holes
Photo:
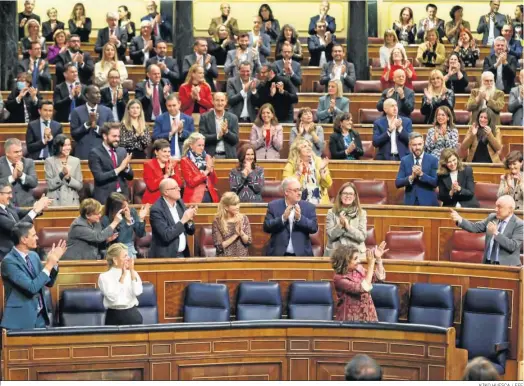
[[[400,158],[409,153],[409,134],[413,131],[411,119],[399,116],[402,120],[402,131],[397,132],[397,149]],[[383,116],[373,122],[373,146],[378,148],[376,160],[391,160],[391,140],[388,134],[388,119]]]

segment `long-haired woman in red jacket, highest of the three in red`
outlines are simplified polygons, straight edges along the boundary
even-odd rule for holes
[[[204,79],[204,69],[193,64],[186,76],[185,83],[178,90],[180,110],[184,114],[204,114],[213,107],[211,87]]]

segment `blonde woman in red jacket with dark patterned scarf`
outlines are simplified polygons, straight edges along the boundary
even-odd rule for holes
[[[184,177],[184,203],[218,202],[215,188],[218,179],[213,158],[204,151],[205,137],[193,133],[182,148],[182,176]]]

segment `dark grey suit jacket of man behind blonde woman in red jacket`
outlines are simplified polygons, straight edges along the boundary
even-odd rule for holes
[[[226,150],[226,158],[237,158],[238,118],[236,115],[226,111],[224,113],[224,119],[227,119],[228,128],[227,134],[222,137]],[[216,127],[215,111],[211,110],[202,114],[198,127],[200,134],[206,137],[206,153],[213,157],[218,143],[217,131],[220,130]]]

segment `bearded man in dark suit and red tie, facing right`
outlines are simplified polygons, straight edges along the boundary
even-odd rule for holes
[[[88,159],[95,180],[93,198],[105,203],[111,193],[118,192],[130,199],[127,181],[133,179],[133,169],[131,154],[119,147],[120,123],[107,123],[100,132],[103,142],[89,152]]]

